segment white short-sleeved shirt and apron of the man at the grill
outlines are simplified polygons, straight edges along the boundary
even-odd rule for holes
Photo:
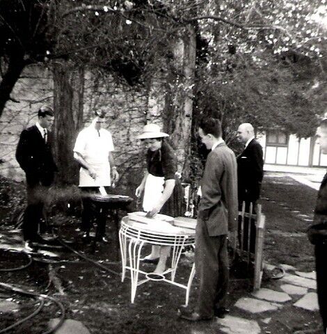
[[[109,152],[113,151],[113,139],[106,129],[95,129],[90,125],[79,132],[74,146],[74,152],[81,154],[84,160],[97,173],[94,180],[88,170],[81,167],[79,170],[79,186],[110,186]]]

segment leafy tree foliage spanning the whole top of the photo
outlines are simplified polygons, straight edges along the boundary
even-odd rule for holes
[[[71,61],[130,86],[170,71],[167,95],[196,88],[196,114],[218,111],[228,140],[241,121],[310,136],[324,112],[326,8],[326,0],[1,0],[0,58],[21,54],[23,67]],[[172,53],[188,26],[198,31],[198,79],[184,87]]]

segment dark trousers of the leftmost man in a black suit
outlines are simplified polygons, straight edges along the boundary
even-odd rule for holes
[[[38,241],[39,225],[44,218],[43,209],[47,201],[49,186],[27,185],[27,207],[22,223],[23,237],[25,241]]]

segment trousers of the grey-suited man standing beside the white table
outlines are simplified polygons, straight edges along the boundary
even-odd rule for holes
[[[227,235],[210,237],[205,222],[196,226],[196,273],[200,289],[196,311],[201,317],[213,317],[214,308],[224,308],[228,293]]]

